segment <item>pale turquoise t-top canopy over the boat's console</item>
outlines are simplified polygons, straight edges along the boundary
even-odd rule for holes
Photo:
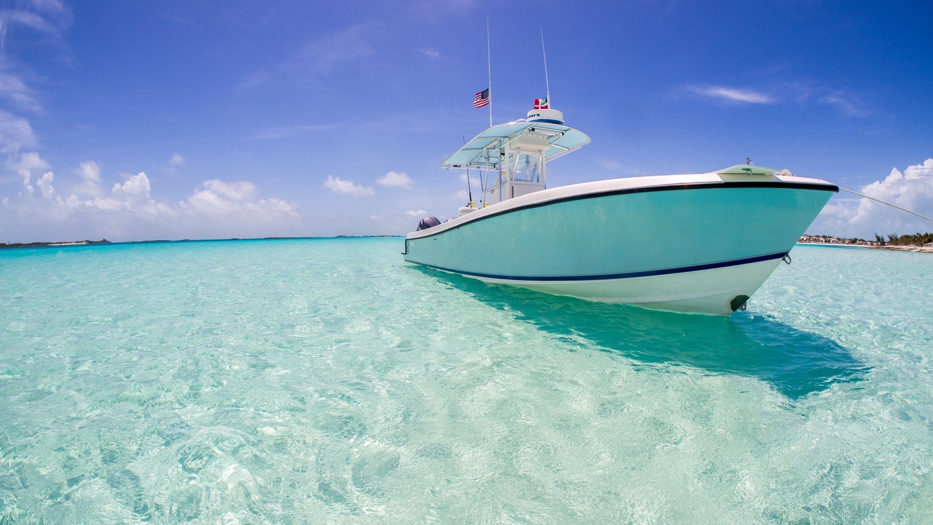
[[[544,152],[546,161],[569,153],[588,144],[590,137],[583,132],[551,122],[510,122],[499,124],[476,135],[466,145],[440,164],[442,168],[489,167],[499,165],[499,149],[508,148],[515,163],[514,154],[521,157],[536,156]]]

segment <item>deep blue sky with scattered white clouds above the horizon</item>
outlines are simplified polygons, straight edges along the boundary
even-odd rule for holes
[[[928,2],[3,2],[0,241],[404,234],[545,93],[549,181],[745,161],[933,215]],[[933,224],[835,198],[810,233]]]

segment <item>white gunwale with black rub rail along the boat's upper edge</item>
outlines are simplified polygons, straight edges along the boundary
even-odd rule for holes
[[[522,211],[524,209],[531,209],[541,206],[550,206],[554,204],[560,204],[571,201],[578,201],[584,199],[598,199],[600,197],[611,197],[614,195],[624,195],[628,193],[648,193],[648,192],[675,192],[678,190],[711,190],[711,189],[730,189],[730,188],[785,188],[788,190],[815,190],[820,192],[839,192],[839,187],[830,182],[797,182],[797,181],[773,181],[773,180],[722,180],[718,182],[704,181],[704,182],[678,182],[673,184],[662,184],[656,186],[636,186],[634,188],[617,188],[615,190],[601,190],[597,192],[587,192],[587,193],[576,193],[572,195],[563,195],[553,197],[547,200],[528,203],[525,205],[519,205],[514,207],[508,207],[503,210],[496,211],[494,213],[489,213],[482,215],[476,218],[470,218],[467,216],[467,219],[460,224],[452,224],[447,228],[439,230],[437,232],[430,232],[434,228],[444,226],[444,223],[441,222],[438,226],[434,228],[428,228],[422,230],[425,234],[421,232],[411,232],[409,236],[405,238],[405,254],[408,254],[408,242],[410,240],[420,240],[433,237],[434,235],[444,234],[446,232],[453,232],[457,228],[466,226],[467,224],[472,224],[474,222],[491,219],[493,217],[498,217],[500,215],[505,215],[507,213],[512,213],[515,211]],[[481,208],[480,208],[481,210]],[[477,210],[477,211],[480,211]],[[475,213],[475,212],[474,212]],[[472,214],[470,214],[472,215]],[[411,236],[414,235],[414,236]],[[406,259],[407,260],[407,259]]]

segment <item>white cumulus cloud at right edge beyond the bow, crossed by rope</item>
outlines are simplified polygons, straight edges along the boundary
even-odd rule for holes
[[[876,180],[857,192],[933,217],[933,159],[908,166],[903,172],[893,168],[884,180]],[[874,233],[933,230],[933,223],[928,220],[869,199],[853,197],[837,199],[827,205],[808,231],[870,238]]]

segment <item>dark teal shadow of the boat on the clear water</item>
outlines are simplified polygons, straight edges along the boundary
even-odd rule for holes
[[[487,284],[424,266],[412,269],[588,348],[655,368],[690,366],[710,374],[757,377],[791,400],[862,380],[870,369],[835,341],[761,314],[676,314]]]

